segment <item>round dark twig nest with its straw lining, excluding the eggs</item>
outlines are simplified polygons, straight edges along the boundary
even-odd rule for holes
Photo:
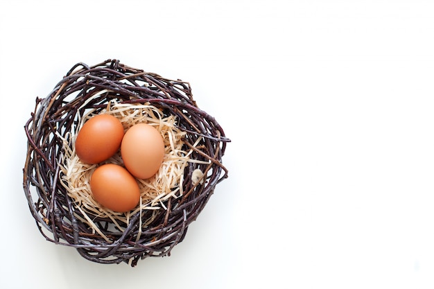
[[[98,166],[123,165],[120,153],[92,165],[76,155],[76,135],[96,114],[115,116],[124,130],[148,123],[164,139],[162,166],[155,176],[137,179],[140,201],[131,211],[102,207],[89,188]],[[24,129],[23,185],[37,227],[46,240],[75,247],[97,263],[134,267],[148,256],[169,256],[227,177],[222,157],[229,139],[198,108],[189,83],[119,60],[74,65],[46,98],[36,98]]]

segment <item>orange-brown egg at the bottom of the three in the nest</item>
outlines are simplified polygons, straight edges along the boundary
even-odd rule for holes
[[[90,178],[90,189],[96,202],[116,212],[130,211],[140,200],[136,179],[116,164],[96,168]]]

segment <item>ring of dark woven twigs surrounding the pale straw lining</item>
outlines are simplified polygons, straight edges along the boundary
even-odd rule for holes
[[[106,237],[102,238],[80,221],[85,216],[60,183],[60,162],[69,132],[77,130],[87,112],[101,112],[111,101],[148,103],[166,116],[176,116],[177,126],[185,132],[186,150],[192,150],[191,159],[199,161],[190,162],[184,170],[182,197],[168,198],[164,208],[135,213],[122,230],[113,229],[110,218],[93,216]],[[37,227],[46,240],[75,247],[85,259],[97,263],[134,266],[148,256],[170,255],[216,184],[227,177],[221,159],[229,139],[216,120],[198,108],[189,83],[146,73],[119,60],[73,66],[49,96],[36,99],[35,112],[24,129],[28,150],[23,185]],[[193,182],[197,169],[204,173],[205,182]]]

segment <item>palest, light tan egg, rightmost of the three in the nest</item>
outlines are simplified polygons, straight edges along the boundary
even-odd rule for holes
[[[125,168],[139,179],[148,179],[157,173],[164,159],[162,135],[146,123],[133,125],[123,137],[121,155]]]

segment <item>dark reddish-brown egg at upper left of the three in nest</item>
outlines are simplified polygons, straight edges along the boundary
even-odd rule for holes
[[[110,114],[99,114],[86,121],[76,139],[76,153],[87,164],[98,164],[112,157],[121,146],[123,126]]]

